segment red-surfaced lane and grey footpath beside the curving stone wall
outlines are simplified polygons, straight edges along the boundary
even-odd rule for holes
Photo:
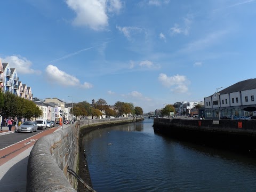
[[[68,125],[63,125],[63,129],[66,127],[68,127]],[[31,149],[37,139],[60,129],[61,127],[53,127],[30,138],[0,149],[0,191],[26,191],[27,164]],[[0,139],[1,135],[13,133],[14,131],[0,131]]]

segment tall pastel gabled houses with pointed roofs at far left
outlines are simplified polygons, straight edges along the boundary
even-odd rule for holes
[[[33,93],[30,86],[19,81],[18,72],[9,63],[2,63],[0,59],[0,87],[3,92],[11,92],[18,97],[32,100]]]

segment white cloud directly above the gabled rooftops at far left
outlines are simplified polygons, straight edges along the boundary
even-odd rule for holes
[[[39,74],[41,71],[31,69],[32,62],[20,55],[8,56],[2,58],[2,62],[9,63],[10,68],[15,68],[19,74]]]

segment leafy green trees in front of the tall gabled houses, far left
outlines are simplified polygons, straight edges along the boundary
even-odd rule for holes
[[[3,117],[37,118],[42,110],[33,101],[20,98],[11,92],[0,91],[0,114]]]

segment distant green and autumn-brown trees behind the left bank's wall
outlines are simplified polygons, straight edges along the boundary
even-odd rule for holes
[[[74,103],[74,110],[70,110],[70,114],[74,112],[74,116],[77,117],[99,117],[102,116],[101,111],[105,111],[107,117],[122,116],[124,114],[142,115],[143,110],[141,107],[134,107],[132,103],[117,101],[114,105],[114,109],[108,105],[104,99],[98,99],[93,105],[87,101]]]

